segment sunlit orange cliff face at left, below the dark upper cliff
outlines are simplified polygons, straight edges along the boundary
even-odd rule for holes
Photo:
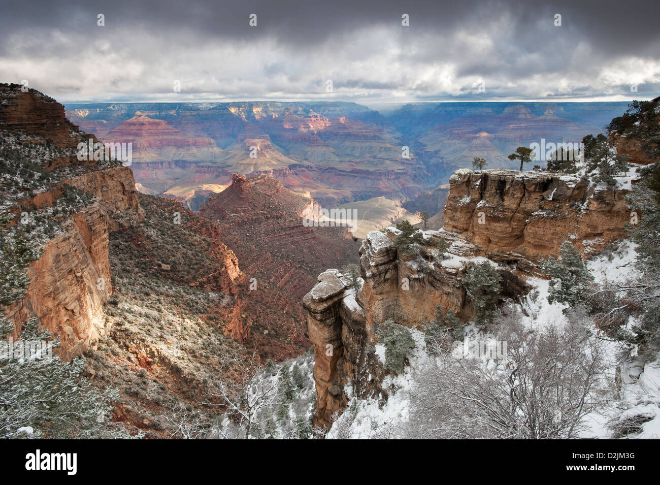
[[[130,168],[89,172],[67,183],[99,199],[64,222],[63,234],[46,242],[41,257],[30,264],[24,298],[7,311],[16,338],[20,325],[32,317],[59,335],[58,353],[65,360],[84,352],[106,331],[101,314],[112,294],[108,234],[143,217]]]

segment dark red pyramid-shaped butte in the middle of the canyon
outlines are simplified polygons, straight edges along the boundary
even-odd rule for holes
[[[346,227],[305,226],[302,216],[316,214],[317,207],[277,179],[234,174],[232,185],[199,210],[218,222],[243,271],[255,278],[246,305],[262,329],[253,332],[253,342],[280,356],[308,348],[300,300],[328,261],[349,263],[359,245],[347,238]]]

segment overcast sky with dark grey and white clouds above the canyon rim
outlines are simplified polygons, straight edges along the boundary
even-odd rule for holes
[[[0,0],[0,13],[0,82],[67,103],[660,94],[657,0]]]

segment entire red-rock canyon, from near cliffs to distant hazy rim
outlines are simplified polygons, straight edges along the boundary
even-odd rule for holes
[[[393,121],[354,104],[71,111],[104,141],[135,144],[125,166],[78,160],[79,141],[98,139],[52,98],[15,84],[0,94],[3,209],[28,214],[25,228],[43,251],[26,294],[5,311],[14,337],[36,317],[61,340],[63,360],[82,356],[84,377],[119,389],[114,418],[147,437],[164,436],[164,410],[197,402],[209,373],[231,379],[228,362],[241,365],[251,351],[260,362],[282,361],[310,346],[314,424],[328,428],[352,396],[387,399],[389,370],[375,337],[384,321],[423,329],[436,306],[474,319],[463,286],[473,262],[495,265],[500,302],[519,303],[565,239],[595,255],[624,237],[631,218],[625,197],[636,165],[616,187],[570,174],[440,169],[441,146],[414,148],[442,129],[438,119],[457,118],[437,108],[402,108],[423,121],[411,158],[401,158]],[[513,104],[463,115],[470,123],[507,119],[511,130],[579,128],[556,119],[558,111]],[[496,161],[500,135],[474,135]],[[634,141],[620,148],[639,150]],[[316,217],[326,203],[360,208],[380,230],[358,235],[327,224]],[[370,219],[370,210],[381,212]],[[422,210],[432,218],[418,253],[397,249],[390,224],[408,218],[420,226]],[[310,214],[317,224],[305,223]],[[450,244],[446,254],[440,238]]]

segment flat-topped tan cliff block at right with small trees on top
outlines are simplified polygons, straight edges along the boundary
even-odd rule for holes
[[[570,175],[463,168],[449,178],[444,230],[494,259],[543,259],[566,239],[589,253],[625,236],[626,193]]]

